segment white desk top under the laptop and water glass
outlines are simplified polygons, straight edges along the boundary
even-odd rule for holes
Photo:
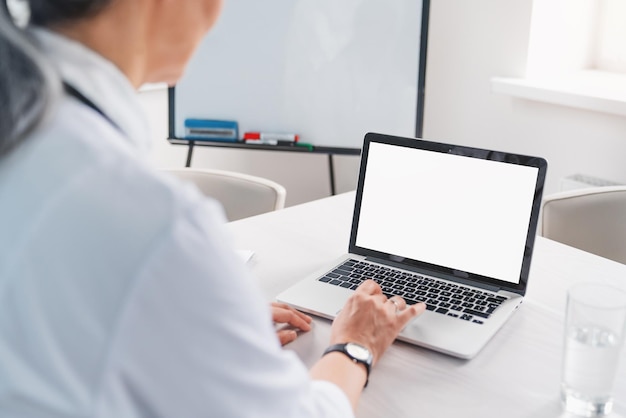
[[[353,202],[347,193],[229,224],[236,247],[255,251],[249,265],[268,300],[347,251]],[[477,357],[396,342],[372,371],[358,416],[560,417],[565,293],[584,280],[626,290],[626,266],[539,237],[525,302]],[[288,348],[310,366],[329,335],[330,322],[315,319]],[[626,350],[615,393],[626,416]]]

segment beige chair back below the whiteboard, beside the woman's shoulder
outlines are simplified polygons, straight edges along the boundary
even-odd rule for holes
[[[181,180],[194,183],[206,196],[219,201],[228,221],[260,215],[285,207],[285,188],[257,176],[232,171],[176,168],[166,169]]]

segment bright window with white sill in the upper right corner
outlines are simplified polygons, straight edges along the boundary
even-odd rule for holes
[[[534,0],[524,78],[492,90],[626,116],[626,0]]]

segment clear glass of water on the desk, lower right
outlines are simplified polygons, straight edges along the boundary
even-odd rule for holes
[[[566,412],[585,417],[611,413],[625,333],[625,291],[592,283],[569,289],[561,380]]]

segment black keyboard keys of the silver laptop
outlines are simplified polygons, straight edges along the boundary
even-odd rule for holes
[[[507,300],[495,293],[359,260],[347,260],[319,281],[354,290],[366,279],[378,283],[387,297],[402,296],[408,305],[424,302],[429,311],[476,324],[482,324]]]

